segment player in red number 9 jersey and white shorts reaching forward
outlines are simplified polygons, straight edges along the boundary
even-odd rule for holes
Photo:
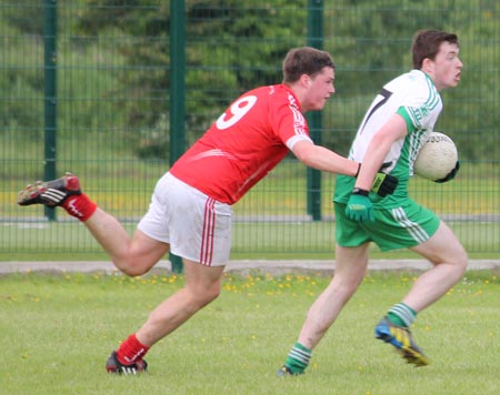
[[[320,171],[358,174],[358,162],[312,142],[303,117],[322,110],[334,93],[334,71],[328,52],[310,47],[290,50],[282,83],[237,99],[158,181],[132,237],[81,192],[73,174],[20,192],[20,205],[60,205],[80,219],[124,274],[147,273],[169,251],[182,257],[184,287],[156,307],[111,353],[108,372],[147,369],[148,350],[219,295],[231,245],[231,205],[289,151]],[[379,172],[372,190],[386,195],[396,184],[396,178]]]

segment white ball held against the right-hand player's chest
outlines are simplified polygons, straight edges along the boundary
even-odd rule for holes
[[[447,176],[458,161],[457,145],[448,135],[430,132],[413,163],[413,173],[436,181]]]

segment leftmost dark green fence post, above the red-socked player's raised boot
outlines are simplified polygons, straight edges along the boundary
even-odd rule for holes
[[[56,179],[57,145],[57,0],[44,0],[44,161],[43,180]],[[44,206],[44,215],[56,221],[56,210]]]

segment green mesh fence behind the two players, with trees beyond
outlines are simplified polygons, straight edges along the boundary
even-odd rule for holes
[[[172,98],[178,64],[169,2],[2,1],[0,260],[104,257],[82,224],[61,210],[19,207],[18,191],[48,172],[71,171],[133,232],[172,160],[172,100],[186,104],[180,129],[190,145],[244,90],[280,82],[292,47],[313,42],[337,63],[337,93],[314,138],[346,155],[374,93],[411,68],[411,38],[420,28],[460,39],[462,81],[443,92],[438,128],[457,142],[462,168],[448,184],[414,179],[411,194],[448,221],[471,256],[500,256],[499,8],[496,1],[187,0],[186,91]],[[321,36],[312,37],[308,18],[318,12]],[[290,156],[234,205],[233,259],[332,256],[334,176],[321,174],[313,191],[319,217],[309,210],[308,176]]]

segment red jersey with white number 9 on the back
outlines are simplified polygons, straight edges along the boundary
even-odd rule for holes
[[[311,141],[292,90],[284,84],[257,88],[236,100],[170,173],[233,204],[301,140]]]

